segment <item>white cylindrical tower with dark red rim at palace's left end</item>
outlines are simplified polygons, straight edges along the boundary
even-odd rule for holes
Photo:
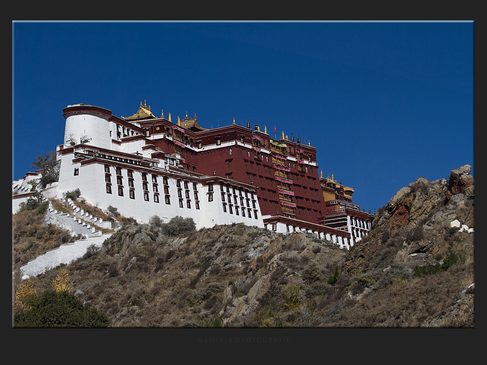
[[[79,144],[110,148],[110,123],[112,111],[91,105],[69,105],[63,110],[66,118],[64,145]]]

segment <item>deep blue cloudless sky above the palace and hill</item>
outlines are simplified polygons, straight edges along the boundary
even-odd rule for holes
[[[385,205],[464,164],[474,175],[473,22],[14,22],[12,180],[84,103],[204,128],[300,135],[318,165]]]

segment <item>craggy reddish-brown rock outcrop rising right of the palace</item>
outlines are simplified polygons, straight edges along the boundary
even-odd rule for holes
[[[420,177],[400,189],[379,209],[369,237],[353,247],[347,259],[350,273],[373,265],[372,257],[384,248],[395,263],[435,264],[449,247],[473,255],[475,186],[470,170],[464,165],[451,171],[449,181]],[[455,220],[459,223],[453,228]],[[460,242],[452,240],[454,230],[466,234]]]

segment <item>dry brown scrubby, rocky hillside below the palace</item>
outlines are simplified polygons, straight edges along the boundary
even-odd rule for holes
[[[469,172],[402,188],[350,251],[242,223],[170,236],[154,221],[125,224],[102,248],[31,279],[40,292],[67,269],[75,296],[112,327],[471,328]]]

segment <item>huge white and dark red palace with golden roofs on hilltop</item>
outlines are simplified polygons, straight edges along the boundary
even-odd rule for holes
[[[242,222],[280,233],[309,232],[352,247],[375,218],[352,203],[354,189],[318,174],[317,150],[298,137],[272,139],[258,125],[205,129],[196,115],[172,122],[140,103],[130,117],[69,105],[55,196],[79,189],[89,204],[141,222],[192,218],[196,228]],[[13,182],[27,196],[40,171]]]

